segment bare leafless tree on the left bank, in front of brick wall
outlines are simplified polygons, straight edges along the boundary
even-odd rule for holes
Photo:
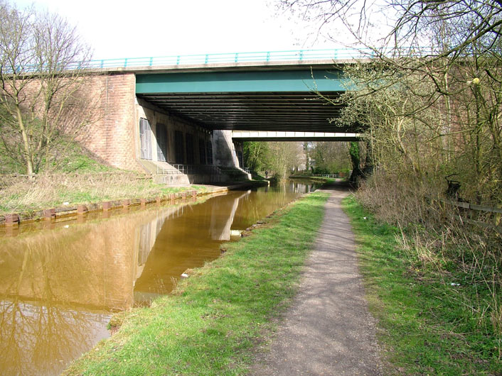
[[[0,121],[5,153],[32,175],[95,116],[89,48],[65,19],[0,0]]]

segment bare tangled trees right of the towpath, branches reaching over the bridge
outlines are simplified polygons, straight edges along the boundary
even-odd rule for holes
[[[346,110],[335,119],[361,125],[371,162],[415,184],[435,180],[437,189],[457,173],[469,199],[501,203],[501,1],[280,3],[319,30],[346,26],[372,57],[345,67],[357,90],[342,96]],[[371,40],[383,11],[395,17]]]

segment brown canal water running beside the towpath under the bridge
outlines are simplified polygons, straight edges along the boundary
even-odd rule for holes
[[[312,189],[287,181],[0,228],[0,375],[58,375],[110,336],[112,312],[168,294],[223,242]]]

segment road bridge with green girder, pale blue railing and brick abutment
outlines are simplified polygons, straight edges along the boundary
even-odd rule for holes
[[[358,140],[354,128],[336,125],[341,107],[325,99],[336,101],[346,91],[343,66],[362,57],[356,50],[249,52],[98,60],[90,68],[106,77],[107,109],[114,113],[102,124],[105,136],[134,136],[119,143],[136,150],[137,159],[225,165],[218,154],[222,137]],[[216,150],[208,150],[204,134]]]

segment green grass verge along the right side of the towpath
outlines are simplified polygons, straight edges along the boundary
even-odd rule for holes
[[[501,326],[490,314],[501,294],[486,280],[489,270],[471,275],[446,256],[419,254],[407,246],[407,234],[375,221],[353,197],[343,204],[356,232],[370,309],[382,329],[379,339],[395,373],[502,375]]]

